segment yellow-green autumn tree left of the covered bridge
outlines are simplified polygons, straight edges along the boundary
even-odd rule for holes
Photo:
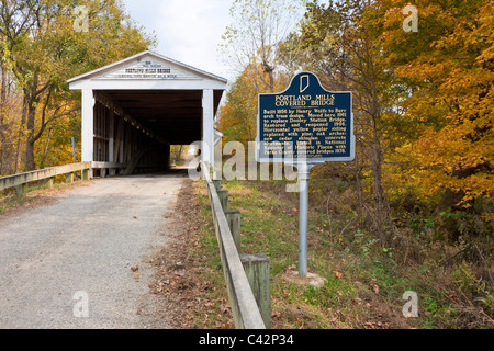
[[[88,31],[75,27],[79,5],[86,9]],[[27,170],[35,169],[35,143],[47,126],[78,111],[66,80],[153,44],[115,0],[3,0],[0,34],[3,61],[23,99],[19,143],[25,138]]]

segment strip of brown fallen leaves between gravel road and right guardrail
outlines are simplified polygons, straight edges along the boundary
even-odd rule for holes
[[[162,215],[169,218],[161,228],[171,242],[154,259],[158,269],[150,290],[164,304],[162,313],[176,329],[216,325],[232,328],[232,310],[227,296],[212,298],[212,286],[205,276],[209,256],[202,250],[201,228],[198,219],[199,201],[192,183],[181,188],[176,208]]]

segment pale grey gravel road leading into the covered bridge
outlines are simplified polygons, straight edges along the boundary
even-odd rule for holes
[[[186,173],[88,181],[0,216],[0,328],[167,328],[148,284]]]

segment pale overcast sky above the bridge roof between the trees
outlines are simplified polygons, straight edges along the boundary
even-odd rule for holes
[[[156,50],[167,57],[229,78],[218,53],[231,23],[233,0],[123,0],[127,13],[147,32],[156,32]]]

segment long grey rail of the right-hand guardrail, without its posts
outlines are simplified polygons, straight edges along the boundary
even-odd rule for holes
[[[214,228],[228,291],[229,303],[237,329],[266,329],[265,320],[232,236],[216,186],[211,180],[210,168],[201,163],[203,180],[207,186]]]

